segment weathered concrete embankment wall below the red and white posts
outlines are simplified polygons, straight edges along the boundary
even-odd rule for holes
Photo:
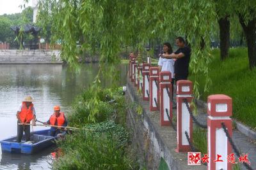
[[[129,104],[127,125],[132,132],[132,145],[141,164],[147,169],[158,169],[161,157],[169,169],[207,169],[206,166],[188,166],[188,153],[177,153],[177,134],[172,127],[161,127],[159,111],[150,111],[137,89],[127,78],[126,100]],[[142,113],[138,113],[138,107]]]

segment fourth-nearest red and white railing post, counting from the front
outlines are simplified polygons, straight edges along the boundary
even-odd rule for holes
[[[149,78],[149,106],[150,111],[159,110],[159,68],[150,67],[150,78]]]

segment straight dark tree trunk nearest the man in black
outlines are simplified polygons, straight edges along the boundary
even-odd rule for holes
[[[218,20],[220,25],[220,58],[225,60],[228,57],[229,38],[230,38],[230,21],[228,16]]]

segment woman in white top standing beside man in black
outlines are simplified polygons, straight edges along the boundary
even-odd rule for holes
[[[171,54],[172,46],[170,43],[166,42],[163,45],[164,53]],[[163,59],[161,54],[159,54],[158,67],[160,71],[170,71],[172,73],[172,97],[173,97],[173,84],[174,84],[174,60],[173,59]]]

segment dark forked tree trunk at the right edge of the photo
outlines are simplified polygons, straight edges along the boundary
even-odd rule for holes
[[[248,48],[249,67],[252,69],[256,66],[256,18],[245,24],[243,17],[239,15],[239,22],[243,27]]]

